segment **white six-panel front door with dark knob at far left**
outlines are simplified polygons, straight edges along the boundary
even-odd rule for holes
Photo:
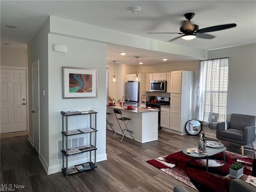
[[[0,133],[27,131],[26,70],[1,68]]]

